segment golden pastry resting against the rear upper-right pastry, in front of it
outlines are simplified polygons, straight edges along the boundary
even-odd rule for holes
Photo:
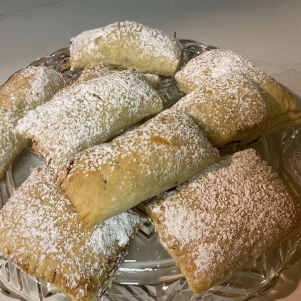
[[[210,142],[222,147],[272,119],[264,98],[265,92],[253,80],[229,73],[207,81],[173,108],[188,113]]]

